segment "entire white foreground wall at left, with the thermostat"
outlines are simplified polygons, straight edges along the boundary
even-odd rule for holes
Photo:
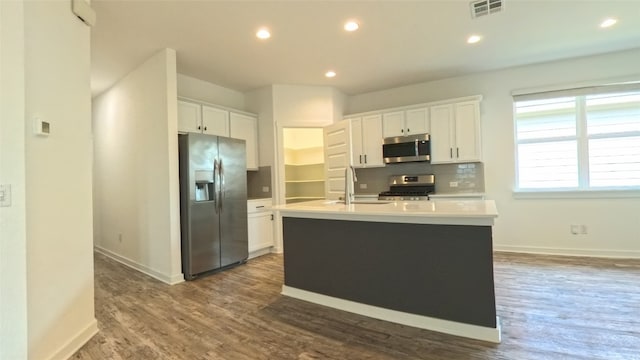
[[[0,358],[66,359],[93,303],[89,28],[67,2],[0,4]],[[49,137],[33,119],[50,122]]]

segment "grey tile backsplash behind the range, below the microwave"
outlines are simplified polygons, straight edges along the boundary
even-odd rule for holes
[[[378,194],[389,190],[389,176],[414,174],[434,174],[436,194],[484,192],[484,165],[482,163],[432,165],[416,162],[391,164],[382,168],[356,169],[358,177],[356,194]],[[366,184],[366,189],[362,188],[363,184]]]

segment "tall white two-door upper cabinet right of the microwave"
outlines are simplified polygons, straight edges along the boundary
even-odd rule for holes
[[[432,106],[431,163],[481,161],[480,103]]]

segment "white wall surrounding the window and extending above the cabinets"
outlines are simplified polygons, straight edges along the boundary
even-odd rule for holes
[[[484,96],[481,105],[486,193],[500,217],[496,249],[542,253],[640,257],[640,198],[514,199],[514,139],[511,91],[596,80],[639,80],[640,50],[525,66],[405,86],[348,100],[347,112]],[[571,235],[585,224],[587,235]]]

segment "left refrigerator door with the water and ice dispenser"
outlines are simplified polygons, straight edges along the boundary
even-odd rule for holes
[[[181,135],[179,144],[182,270],[190,280],[221,266],[214,176],[218,144],[217,137],[202,134]]]

